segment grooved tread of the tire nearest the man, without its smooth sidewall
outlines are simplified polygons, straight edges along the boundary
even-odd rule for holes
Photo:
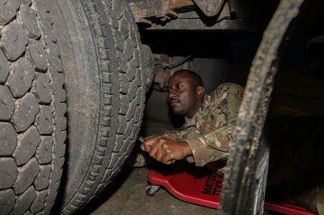
[[[99,56],[101,132],[85,179],[77,193],[63,207],[63,214],[72,214],[81,209],[121,170],[134,146],[135,137],[139,134],[143,113],[138,113],[144,109],[142,98],[145,98],[145,84],[141,72],[141,44],[130,8],[125,1],[114,0],[84,0],[83,5],[92,26]],[[108,27],[111,26],[111,31],[103,29],[107,24]],[[123,27],[128,30],[121,30],[124,24],[126,26]],[[136,43],[132,41],[130,32],[136,32]],[[113,47],[109,47],[111,43],[114,44]],[[128,50],[124,47],[128,47]],[[130,71],[131,68],[135,69],[134,74]],[[135,96],[137,93],[141,95]],[[139,115],[136,120],[132,119],[135,113]],[[127,132],[126,128],[129,128]],[[132,131],[135,135],[131,135]],[[123,135],[125,138],[122,138]]]

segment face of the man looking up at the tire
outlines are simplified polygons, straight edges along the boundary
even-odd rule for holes
[[[168,86],[168,101],[173,112],[192,117],[199,109],[199,99],[192,77],[186,73],[176,73],[170,77]]]

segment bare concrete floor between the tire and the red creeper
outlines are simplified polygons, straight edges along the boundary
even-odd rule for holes
[[[126,166],[114,183],[81,214],[89,215],[162,215],[162,214],[216,214],[216,210],[185,203],[174,198],[164,189],[155,196],[145,195],[149,185],[146,176],[148,168]],[[110,194],[108,194],[110,193]]]

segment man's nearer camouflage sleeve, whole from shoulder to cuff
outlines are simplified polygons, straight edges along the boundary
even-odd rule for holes
[[[192,155],[196,166],[204,166],[210,161],[227,159],[229,144],[232,140],[232,133],[236,126],[239,113],[239,106],[243,96],[243,88],[236,84],[224,84],[217,92],[219,109],[221,115],[214,109],[213,120],[201,124],[204,129],[208,129],[203,135],[185,139],[192,149]],[[217,125],[217,126],[216,126]],[[190,158],[188,159],[190,161]]]

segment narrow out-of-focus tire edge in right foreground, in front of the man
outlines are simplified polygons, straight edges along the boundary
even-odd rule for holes
[[[267,121],[271,119],[267,116],[270,115],[274,80],[289,38],[307,20],[305,15],[314,12],[307,10],[309,2],[281,1],[263,32],[247,78],[227,159],[219,208],[221,215],[263,214],[272,141],[270,121]]]

